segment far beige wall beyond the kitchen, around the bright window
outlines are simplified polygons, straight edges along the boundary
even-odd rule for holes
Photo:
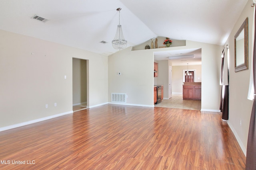
[[[183,70],[196,70],[195,82],[202,80],[202,65],[172,66],[172,92],[182,93]]]

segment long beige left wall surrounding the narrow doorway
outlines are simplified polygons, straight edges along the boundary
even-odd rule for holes
[[[88,106],[108,102],[108,57],[0,30],[0,127],[72,111],[73,57],[88,60]]]

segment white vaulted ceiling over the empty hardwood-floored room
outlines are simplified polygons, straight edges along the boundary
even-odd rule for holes
[[[113,49],[111,41],[118,25],[116,9],[120,7],[120,23],[128,47],[158,36],[224,45],[246,2],[247,0],[0,0],[0,29],[110,55],[118,51]],[[49,21],[42,23],[32,20],[34,15]],[[108,43],[102,44],[100,41]],[[193,50],[198,53],[196,49],[170,53],[187,54],[193,53]],[[162,57],[166,58],[165,55],[162,54]]]

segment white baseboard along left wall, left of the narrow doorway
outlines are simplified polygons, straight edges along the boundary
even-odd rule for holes
[[[9,130],[9,129],[14,129],[16,127],[30,125],[32,123],[37,123],[37,122],[40,122],[40,121],[45,121],[45,120],[48,120],[48,119],[52,119],[52,118],[55,118],[55,117],[60,117],[60,116],[67,115],[67,114],[70,114],[70,113],[73,113],[73,111],[68,111],[68,112],[65,112],[65,113],[57,114],[57,115],[51,115],[51,116],[47,116],[47,117],[42,117],[40,119],[35,119],[35,120],[31,120],[31,121],[26,121],[26,122],[18,123],[18,124],[15,124],[15,125],[1,127],[0,131],[6,131],[6,130]]]

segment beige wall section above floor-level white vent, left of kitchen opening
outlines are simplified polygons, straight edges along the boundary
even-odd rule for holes
[[[108,57],[108,101],[111,93],[128,95],[127,104],[154,106],[154,59],[151,50],[126,48]],[[121,75],[118,75],[121,72]]]

